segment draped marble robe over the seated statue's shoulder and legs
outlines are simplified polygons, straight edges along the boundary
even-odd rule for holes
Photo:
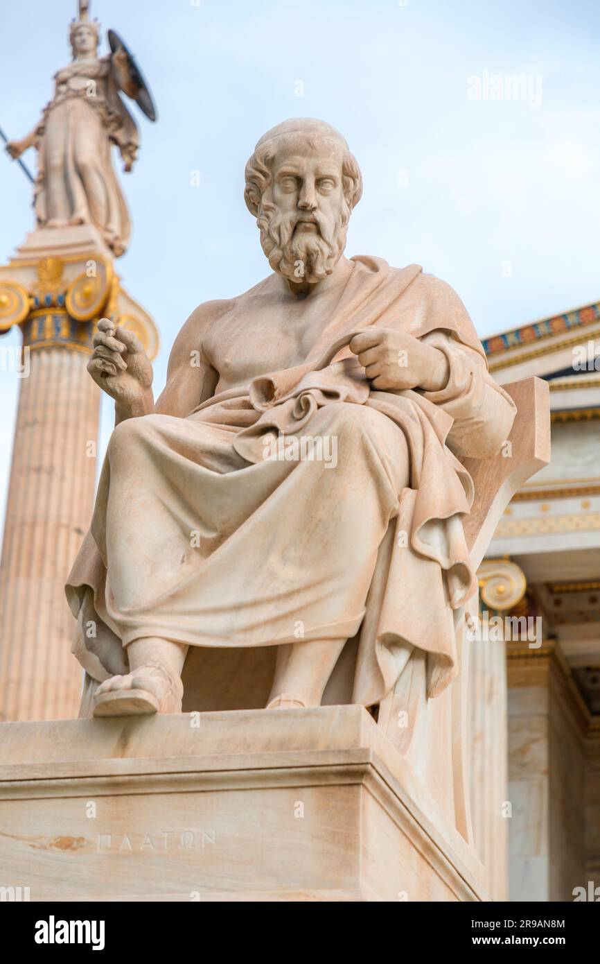
[[[117,426],[66,585],[93,680],[127,672],[127,645],[145,636],[213,650],[357,637],[364,706],[393,689],[406,647],[425,656],[428,697],[456,676],[477,588],[462,530],[477,494],[460,458],[497,454],[514,404],[449,285],[418,265],[352,262],[302,364],[186,417]],[[371,388],[348,348],[371,325],[442,351],[446,386]],[[281,435],[335,438],[337,464],[266,457]]]

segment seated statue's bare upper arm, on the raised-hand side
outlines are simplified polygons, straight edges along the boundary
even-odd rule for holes
[[[157,399],[155,412],[184,418],[214,394],[219,373],[207,358],[204,342],[211,326],[228,308],[229,302],[214,301],[192,312],[173,343],[167,385]]]

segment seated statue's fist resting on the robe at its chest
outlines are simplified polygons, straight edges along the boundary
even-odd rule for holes
[[[443,352],[413,335],[387,328],[368,328],[354,335],[350,349],[364,366],[373,388],[439,391],[448,382]]]

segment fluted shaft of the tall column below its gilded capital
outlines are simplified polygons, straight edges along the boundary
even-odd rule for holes
[[[93,504],[100,393],[88,360],[35,347],[20,381],[0,562],[0,720],[77,716],[82,671],[64,585]]]

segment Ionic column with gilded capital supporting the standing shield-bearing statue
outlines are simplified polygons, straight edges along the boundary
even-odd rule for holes
[[[93,508],[100,390],[86,369],[103,315],[156,356],[156,326],[91,225],[36,228],[0,265],[0,335],[23,335],[0,560],[0,721],[78,714],[83,672],[64,586]]]

